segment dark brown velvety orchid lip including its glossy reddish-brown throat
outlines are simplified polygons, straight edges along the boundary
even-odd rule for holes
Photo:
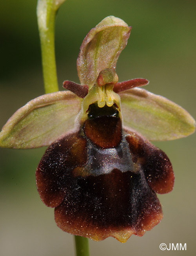
[[[125,242],[162,219],[155,192],[172,190],[167,156],[141,135],[122,130],[118,107],[88,109],[81,129],[54,142],[36,180],[43,202],[55,208],[64,231],[96,241]]]

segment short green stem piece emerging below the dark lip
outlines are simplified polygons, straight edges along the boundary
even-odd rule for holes
[[[76,256],[90,256],[89,240],[83,236],[74,236],[76,246]]]

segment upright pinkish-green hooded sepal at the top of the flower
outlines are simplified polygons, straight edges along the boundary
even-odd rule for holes
[[[82,85],[92,87],[103,69],[115,69],[131,33],[123,20],[114,16],[103,19],[87,34],[77,59],[78,76]]]

